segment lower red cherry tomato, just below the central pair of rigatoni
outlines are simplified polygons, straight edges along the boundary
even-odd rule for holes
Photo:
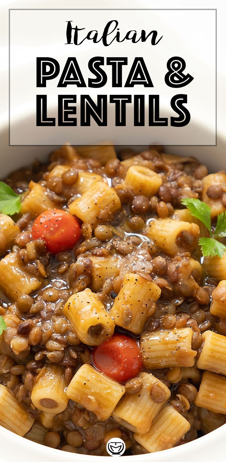
[[[107,377],[119,383],[127,382],[136,377],[142,368],[139,346],[127,335],[114,334],[94,348],[93,364]]]

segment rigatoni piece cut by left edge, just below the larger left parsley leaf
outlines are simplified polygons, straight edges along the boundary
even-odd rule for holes
[[[11,247],[19,232],[20,228],[12,218],[0,213],[0,255]]]

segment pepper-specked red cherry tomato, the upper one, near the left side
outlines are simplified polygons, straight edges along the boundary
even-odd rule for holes
[[[77,219],[57,208],[42,212],[32,227],[32,239],[43,239],[52,254],[72,249],[80,236]]]

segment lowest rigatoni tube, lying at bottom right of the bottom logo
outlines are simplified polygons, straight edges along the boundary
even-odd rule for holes
[[[149,452],[170,449],[190,430],[190,423],[173,407],[165,406],[157,415],[149,432],[134,438]]]

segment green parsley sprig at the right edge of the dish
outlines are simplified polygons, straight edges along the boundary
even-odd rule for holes
[[[217,238],[226,237],[226,212],[220,213],[217,217],[215,231],[211,229],[211,208],[199,199],[182,199],[181,203],[185,205],[193,217],[202,221],[210,233],[210,237],[201,237],[199,245],[201,246],[204,257],[222,257],[226,251],[226,246],[217,241]]]

